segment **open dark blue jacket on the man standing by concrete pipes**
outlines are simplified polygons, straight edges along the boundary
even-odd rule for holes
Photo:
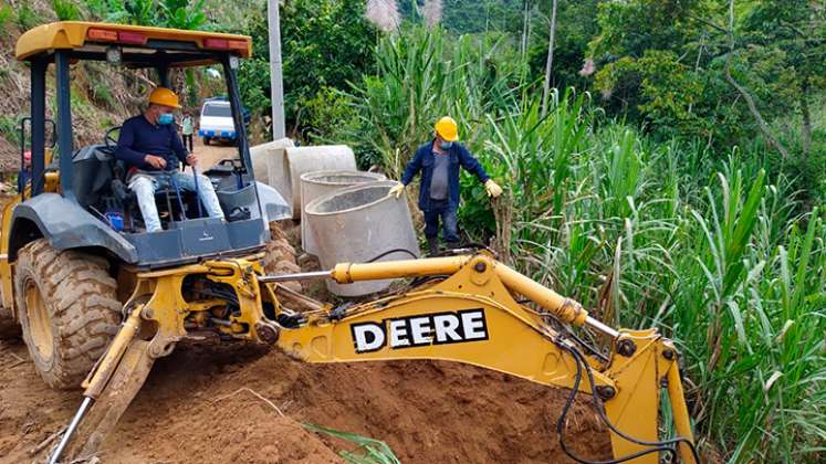
[[[490,179],[482,168],[482,165],[473,158],[462,144],[453,143],[453,146],[447,150],[450,155],[450,166],[448,168],[448,207],[457,209],[459,207],[459,167],[461,166],[468,172],[475,175],[484,183]],[[421,187],[419,189],[419,209],[428,211],[430,209],[430,179],[433,176],[433,143],[422,145],[416,150],[416,155],[407,164],[405,175],[401,176],[401,183],[407,186],[412,181],[419,171],[421,171]]]

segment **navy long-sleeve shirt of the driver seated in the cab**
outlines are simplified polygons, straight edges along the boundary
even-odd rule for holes
[[[121,126],[115,157],[126,161],[127,170],[158,170],[144,161],[146,155],[166,159],[166,170],[171,171],[177,169],[178,162],[186,162],[188,151],[174,124],[151,124],[144,115],[126,119]]]

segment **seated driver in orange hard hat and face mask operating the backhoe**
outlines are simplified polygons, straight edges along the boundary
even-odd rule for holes
[[[198,158],[187,151],[172,124],[172,112],[179,109],[175,92],[157,87],[149,94],[149,106],[143,114],[126,119],[121,127],[115,157],[126,162],[127,183],[137,196],[147,232],[161,230],[155,191],[171,184],[175,189],[198,191],[210,218],[224,219],[209,178],[178,170],[180,162],[192,167]],[[196,188],[197,186],[197,188]]]

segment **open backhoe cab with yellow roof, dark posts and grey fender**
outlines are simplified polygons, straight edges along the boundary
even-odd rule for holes
[[[268,202],[266,207],[261,204],[259,190],[262,188],[253,183],[249,146],[241,124],[242,105],[236,70],[240,59],[250,56],[251,49],[252,40],[244,35],[80,21],[44,24],[21,35],[15,54],[30,67],[31,116],[28,119],[32,180],[24,189],[31,197],[23,197],[11,219],[12,222],[19,221],[15,224],[23,224],[20,225],[19,242],[24,243],[31,232],[49,238],[50,243],[61,250],[95,250],[144,268],[260,251],[269,236],[268,214],[278,210],[279,204],[276,201]],[[216,172],[210,181],[213,184],[218,181],[218,200],[226,217],[234,214],[232,220],[205,218],[197,193],[178,193],[175,207],[166,197],[163,212],[166,213],[167,228],[158,232],[142,230],[136,199],[124,187],[124,169],[114,157],[116,141],[109,137],[111,130],[106,133],[104,144],[75,150],[71,64],[83,61],[101,61],[122,68],[154,68],[158,85],[163,87],[169,87],[172,67],[216,65],[223,70],[233,119],[241,134],[238,137],[240,162],[233,161],[229,170]],[[46,81],[52,65],[56,147],[48,150]],[[48,182],[48,179],[51,180]],[[271,196],[271,199],[280,197]],[[163,196],[156,196],[161,205],[163,200]],[[271,208],[273,204],[274,209]],[[119,213],[123,223],[111,221],[101,213],[109,210],[113,214]],[[66,211],[72,213],[65,217]],[[115,224],[122,224],[122,229]],[[18,236],[15,230],[12,226],[12,241]],[[10,256],[15,256],[19,250],[18,242],[14,243]]]

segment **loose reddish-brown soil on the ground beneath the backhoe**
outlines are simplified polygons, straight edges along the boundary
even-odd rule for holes
[[[209,166],[232,147],[196,152]],[[30,451],[69,423],[81,392],[48,388],[19,338],[0,341],[0,463],[44,462],[54,442]],[[184,342],[155,363],[97,457],[333,463],[355,447],[302,428],[311,423],[381,440],[404,463],[567,463],[555,433],[566,394],[452,362],[307,365],[244,342]],[[581,456],[610,457],[584,402],[568,414],[566,443]]]

